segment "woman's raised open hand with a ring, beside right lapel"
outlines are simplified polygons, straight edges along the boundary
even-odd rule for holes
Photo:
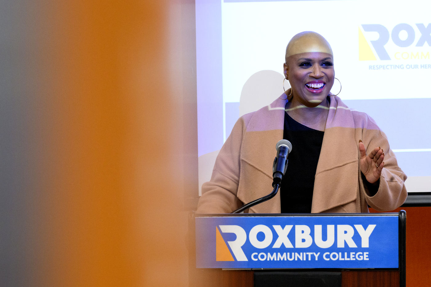
[[[376,147],[367,155],[364,143],[359,140],[359,153],[361,155],[359,159],[361,172],[367,181],[373,184],[380,178],[381,170],[384,167],[384,151],[380,147]]]

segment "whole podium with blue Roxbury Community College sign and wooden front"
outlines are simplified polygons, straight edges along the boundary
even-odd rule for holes
[[[193,287],[406,286],[403,210],[350,214],[191,212],[189,234],[189,281]]]

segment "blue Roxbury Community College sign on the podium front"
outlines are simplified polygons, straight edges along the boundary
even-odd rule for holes
[[[398,213],[195,218],[197,268],[398,268]]]

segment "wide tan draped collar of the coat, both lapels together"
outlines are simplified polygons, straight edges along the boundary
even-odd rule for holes
[[[331,96],[329,99],[325,135],[316,170],[312,212],[322,212],[356,200],[359,188],[358,148],[352,112],[340,98]],[[247,165],[253,175],[247,176],[248,182],[242,184],[240,178],[237,196],[244,203],[271,192],[272,162],[275,157],[275,145],[283,139],[286,103],[287,96],[282,94],[269,106],[254,112],[245,127],[240,152],[241,166]],[[265,181],[263,185],[262,182],[257,182],[257,179],[262,181],[262,178]],[[256,182],[253,182],[254,179]],[[270,203],[271,201],[273,202]],[[275,205],[275,209],[269,207],[271,205]],[[252,210],[257,213],[281,210],[279,194],[267,204],[262,203]]]

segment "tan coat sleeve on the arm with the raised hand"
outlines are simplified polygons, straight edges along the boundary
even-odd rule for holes
[[[380,175],[378,191],[374,195],[369,192],[367,184],[361,182],[361,187],[365,193],[365,201],[378,211],[394,210],[406,201],[407,190],[404,181],[406,181],[407,175],[398,166],[397,158],[389,147],[386,134],[377,127],[370,117],[368,117],[368,122],[373,128],[362,131],[362,141],[365,144],[367,154],[371,153],[375,147],[383,149],[384,168]],[[359,177],[359,180],[362,181],[362,178]]]

